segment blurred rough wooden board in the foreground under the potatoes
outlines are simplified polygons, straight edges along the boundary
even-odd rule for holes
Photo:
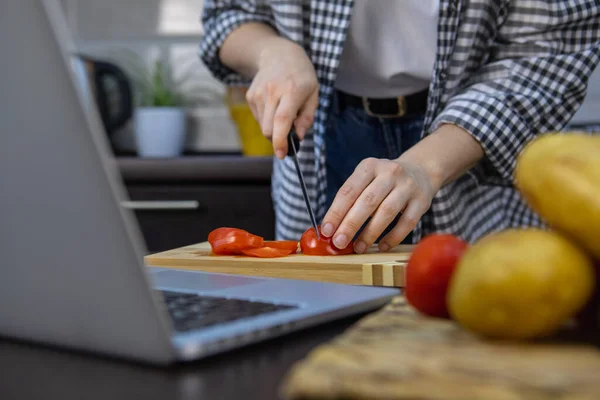
[[[288,400],[597,400],[598,344],[597,332],[567,328],[536,343],[487,341],[418,315],[398,297],[294,365],[281,393]]]

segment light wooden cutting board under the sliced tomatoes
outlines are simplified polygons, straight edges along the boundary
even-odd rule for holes
[[[181,247],[144,258],[146,265],[273,278],[314,280],[356,285],[404,286],[404,267],[412,246],[401,245],[380,253],[374,246],[365,254],[281,258],[217,256],[208,242]]]

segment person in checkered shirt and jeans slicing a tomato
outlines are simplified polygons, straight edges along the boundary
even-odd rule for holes
[[[277,156],[277,238],[310,226],[285,158],[293,127],[323,234],[361,253],[411,232],[541,225],[515,160],[582,103],[599,21],[597,0],[205,0],[200,54],[227,84],[251,83]]]

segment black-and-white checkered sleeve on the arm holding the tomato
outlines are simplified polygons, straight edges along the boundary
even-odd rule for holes
[[[485,152],[472,171],[478,181],[510,184],[523,146],[563,128],[584,100],[600,61],[600,3],[516,1],[490,46],[492,56],[449,96],[429,131],[462,127]]]

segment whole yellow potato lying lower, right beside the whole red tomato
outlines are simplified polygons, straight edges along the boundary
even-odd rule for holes
[[[463,327],[487,337],[546,336],[583,308],[594,278],[591,258],[558,233],[507,230],[465,252],[448,307]]]

